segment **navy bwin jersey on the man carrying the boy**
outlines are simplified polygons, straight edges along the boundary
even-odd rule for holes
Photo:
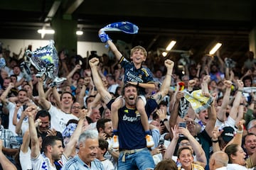
[[[111,103],[113,102],[114,100],[107,103],[107,107],[111,108]],[[157,106],[156,101],[153,98],[149,98],[145,106],[146,115],[149,117]],[[146,147],[144,128],[139,112],[135,108],[124,106],[119,108],[118,118],[119,149],[131,150]]]

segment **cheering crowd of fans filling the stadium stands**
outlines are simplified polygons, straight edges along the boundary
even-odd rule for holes
[[[256,167],[253,52],[241,69],[231,59],[206,55],[198,63],[187,61],[181,73],[176,62],[146,56],[143,48],[122,56],[110,38],[103,42],[119,57],[69,57],[60,51],[59,77],[67,80],[53,87],[45,76],[36,77],[33,65],[31,75],[23,72],[26,56],[1,49],[6,66],[0,70],[0,169]],[[147,68],[152,81],[127,80],[123,60],[130,59],[139,63],[136,69]],[[138,87],[144,88],[146,104],[137,100]],[[122,106],[113,108],[116,98]]]

